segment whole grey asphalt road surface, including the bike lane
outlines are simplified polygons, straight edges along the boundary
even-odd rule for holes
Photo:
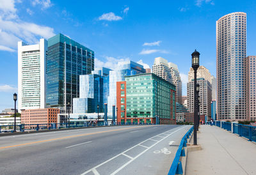
[[[86,128],[0,137],[0,174],[167,174],[191,126]]]

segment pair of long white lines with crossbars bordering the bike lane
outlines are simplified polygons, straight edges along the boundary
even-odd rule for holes
[[[185,128],[185,127],[186,127],[186,126],[184,126],[184,127],[182,127],[182,128]],[[179,129],[176,130],[175,132],[181,130],[182,128],[179,128]],[[173,128],[172,130],[175,130],[175,129],[177,129],[177,128]],[[172,130],[169,130],[169,132],[171,132]],[[170,133],[170,135],[172,135],[172,134],[175,133],[175,132]],[[162,134],[162,133],[159,133],[158,135],[161,135],[161,134]],[[166,136],[166,137],[169,137],[170,135],[168,135],[168,136]],[[153,137],[150,137],[149,139],[154,138],[154,137],[156,137],[156,136],[157,136],[157,135],[155,135],[155,136],[153,136]],[[163,137],[163,139],[165,139],[166,137]],[[163,141],[163,139],[161,139],[159,142]],[[88,172],[93,171],[93,169],[97,169],[97,168],[100,167],[101,165],[104,165],[104,164],[108,163],[109,161],[111,161],[111,160],[115,159],[116,157],[122,155],[123,153],[125,153],[125,152],[131,150],[132,148],[135,148],[136,146],[142,146],[141,144],[142,144],[143,142],[146,142],[146,141],[148,141],[148,139],[145,140],[145,141],[140,142],[139,144],[136,144],[135,146],[132,146],[131,148],[125,150],[124,152],[122,152],[122,153],[120,153],[120,154],[118,154],[118,155],[116,155],[116,156],[113,156],[112,158],[109,158],[109,160],[106,160],[105,162],[102,162],[101,164],[99,164],[99,165],[93,167],[92,169],[89,169],[88,171],[84,172],[84,173],[81,174],[81,175],[87,174]],[[123,169],[126,165],[130,164],[133,160],[135,160],[136,158],[138,158],[140,155],[142,155],[143,153],[145,153],[148,149],[152,148],[153,146],[155,146],[155,145],[156,145],[157,143],[159,143],[159,142],[156,142],[155,144],[153,144],[153,145],[150,146],[150,147],[143,146],[143,147],[145,147],[145,148],[147,148],[147,149],[145,149],[144,151],[142,151],[142,152],[141,152],[139,155],[137,155],[136,157],[132,158],[129,162],[127,162],[126,164],[124,164],[122,167],[120,167],[119,169],[117,169],[117,170],[116,170],[115,172],[113,172],[112,174],[116,174],[117,172],[119,172],[119,171],[120,171],[121,169]]]

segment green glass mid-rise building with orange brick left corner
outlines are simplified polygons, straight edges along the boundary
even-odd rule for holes
[[[175,85],[154,73],[125,77],[117,83],[119,122],[175,124]]]

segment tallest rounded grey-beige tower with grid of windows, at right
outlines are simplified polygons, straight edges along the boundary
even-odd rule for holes
[[[246,13],[216,21],[217,119],[246,119]]]

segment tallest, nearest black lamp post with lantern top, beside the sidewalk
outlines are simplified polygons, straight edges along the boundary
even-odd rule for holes
[[[197,72],[197,69],[199,67],[199,55],[200,53],[197,52],[195,50],[195,52],[193,52],[191,54],[192,56],[192,68],[194,70],[194,145],[197,144],[197,134],[196,134],[196,124],[197,124],[197,103],[196,101],[198,100],[197,99],[197,93],[196,93],[196,72]]]

